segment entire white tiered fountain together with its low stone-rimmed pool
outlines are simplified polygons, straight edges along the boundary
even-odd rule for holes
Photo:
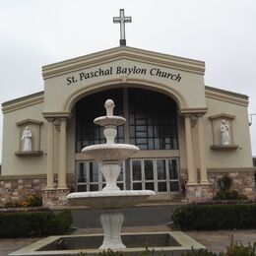
[[[190,251],[191,247],[194,249],[205,248],[180,231],[126,233],[123,235],[123,239],[128,248],[123,244],[121,227],[124,218],[118,212],[122,208],[143,203],[149,196],[156,193],[151,190],[120,190],[116,185],[120,173],[119,161],[129,158],[139,149],[132,145],[114,143],[116,127],[124,124],[125,119],[113,115],[113,100],[107,99],[105,108],[106,116],[96,118],[95,123],[104,127],[106,144],[86,147],[83,152],[92,159],[101,162],[101,172],[106,185],[102,191],[79,192],[68,195],[68,201],[71,205],[104,210],[100,216],[104,231],[103,243],[98,249],[123,249],[128,255],[138,255],[139,252],[145,250],[146,246],[150,246],[150,249],[154,248],[158,252],[163,251],[165,255],[181,255],[182,252]],[[9,255],[78,255],[80,252],[96,255],[98,253],[96,246],[101,241],[102,236],[96,234],[49,236]]]

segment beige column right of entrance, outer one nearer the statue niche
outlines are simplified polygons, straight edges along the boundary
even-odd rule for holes
[[[197,132],[198,132],[198,150],[199,150],[199,163],[200,163],[200,184],[209,185],[206,169],[206,154],[205,154],[205,134],[203,116],[198,116],[197,120]]]

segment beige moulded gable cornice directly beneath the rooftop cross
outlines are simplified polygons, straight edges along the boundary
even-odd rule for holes
[[[205,62],[203,61],[133,47],[118,46],[108,50],[43,66],[42,76],[43,79],[47,79],[120,59],[141,61],[176,70],[183,70],[202,75],[205,74]]]

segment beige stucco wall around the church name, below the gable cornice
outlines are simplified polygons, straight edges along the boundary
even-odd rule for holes
[[[102,90],[102,88],[109,87],[122,87],[122,81],[120,74],[114,73],[114,70],[117,69],[118,66],[121,67],[140,67],[141,69],[147,70],[146,75],[137,75],[130,74],[127,76],[127,81],[125,84],[129,86],[129,84],[143,84],[145,88],[154,89],[159,88],[160,91],[165,91],[165,93],[169,93],[170,95],[176,95],[180,97],[178,99],[180,102],[180,107],[205,107],[205,96],[204,96],[204,78],[202,75],[193,74],[185,71],[177,71],[169,68],[162,68],[157,65],[150,65],[143,62],[131,61],[131,60],[118,60],[106,63],[104,65],[98,65],[93,68],[85,68],[82,71],[77,71],[73,73],[68,73],[66,75],[61,75],[53,78],[46,79],[44,82],[45,88],[45,104],[44,104],[44,112],[59,112],[59,111],[68,111],[69,105],[72,101],[72,98],[75,96],[80,96],[82,94],[92,94],[98,90]],[[98,69],[113,70],[112,76],[102,76],[97,78],[92,78],[88,80],[79,80],[79,74],[86,72],[90,73],[96,71]],[[181,80],[180,82],[172,81],[166,78],[160,78],[157,76],[151,76],[150,71],[152,69],[158,69],[162,72],[167,72],[171,74],[180,74]],[[67,85],[67,77],[75,77],[77,79],[77,83]],[[56,101],[56,97],[58,97],[58,101]],[[197,100],[194,100],[194,98]],[[177,101],[178,101],[177,100]]]

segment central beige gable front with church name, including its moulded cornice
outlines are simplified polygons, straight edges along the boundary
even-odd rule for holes
[[[202,61],[131,47],[117,47],[47,65],[42,67],[43,112],[69,112],[83,96],[134,84],[172,96],[180,108],[204,108],[204,68]],[[120,73],[119,69],[125,72]],[[170,75],[162,77],[158,71]]]

